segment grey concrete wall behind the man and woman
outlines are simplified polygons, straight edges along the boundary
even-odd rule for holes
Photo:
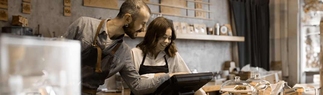
[[[60,36],[64,30],[72,24],[77,18],[87,16],[92,18],[114,18],[119,10],[83,6],[83,0],[71,0],[71,16],[64,16],[64,0],[31,0],[31,14],[22,13],[22,0],[8,0],[8,21],[0,21],[0,27],[11,26],[12,15],[21,15],[28,19],[29,27],[33,33],[38,33],[37,25],[40,25],[39,33],[45,37]],[[120,7],[123,0],[118,0]],[[159,3],[159,0],[150,0],[152,3]],[[230,7],[228,0],[203,0],[214,5],[204,5],[203,9],[213,11],[206,14],[207,18],[214,20],[202,20],[194,18],[176,17],[162,15],[173,22],[186,22],[188,24],[206,24],[207,27],[214,26],[215,23],[230,24]],[[188,7],[194,8],[193,2],[188,2]],[[152,12],[159,12],[158,5],[149,5]],[[194,16],[192,10],[181,10],[181,14]],[[152,14],[149,20],[156,18],[157,14]],[[1,29],[0,29],[1,31]],[[135,47],[143,38],[135,40],[125,37],[125,42],[130,48]],[[221,70],[225,61],[230,61],[230,43],[226,41],[205,41],[205,40],[183,40],[177,39],[176,45],[178,52],[188,65],[189,69],[197,69],[199,72]]]

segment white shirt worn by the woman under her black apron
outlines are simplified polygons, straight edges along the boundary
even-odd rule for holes
[[[158,53],[156,59],[155,56],[151,56],[150,54],[146,55],[146,59],[145,62],[143,63],[143,65],[146,66],[163,66],[166,64],[165,59],[164,59],[164,55],[166,55],[165,51],[161,51]],[[132,48],[131,49],[131,56],[135,65],[135,68],[137,71],[139,71],[140,68],[140,64],[142,62],[143,59],[143,54],[140,48]],[[168,55],[165,56],[167,63],[168,63],[168,69],[169,69],[169,73],[176,73],[176,72],[187,72],[187,73],[191,73],[190,69],[188,69],[187,65],[185,64],[185,62],[183,61],[182,57],[180,56],[180,54],[178,54],[178,52],[176,52],[175,57],[169,57]],[[154,73],[150,73],[150,74],[143,74],[141,75],[141,79],[151,79],[154,77]],[[204,90],[199,89],[195,92],[194,95],[206,95],[206,93],[204,92]]]

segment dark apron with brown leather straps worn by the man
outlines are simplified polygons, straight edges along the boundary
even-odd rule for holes
[[[99,31],[105,20],[102,20],[98,26],[94,41],[82,51],[82,92],[96,94],[99,85],[103,85],[109,75],[111,63],[115,59],[114,53],[119,49],[121,43],[118,43],[111,52],[101,51],[96,44]],[[101,63],[105,62],[105,63]],[[101,68],[102,67],[102,68]]]

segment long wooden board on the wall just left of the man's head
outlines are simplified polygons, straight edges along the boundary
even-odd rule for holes
[[[118,9],[118,0],[83,0],[84,6]]]

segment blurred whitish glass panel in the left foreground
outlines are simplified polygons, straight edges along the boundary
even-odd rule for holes
[[[79,41],[1,34],[0,95],[80,95]]]

